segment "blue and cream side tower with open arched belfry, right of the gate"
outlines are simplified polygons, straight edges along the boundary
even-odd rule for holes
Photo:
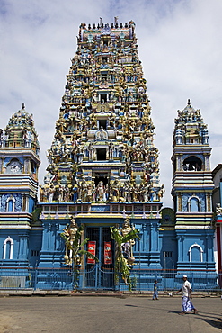
[[[173,133],[173,202],[178,241],[178,272],[215,269],[212,228],[214,184],[209,166],[211,148],[200,110],[178,111]]]

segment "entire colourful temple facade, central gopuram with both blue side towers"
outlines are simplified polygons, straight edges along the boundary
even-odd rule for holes
[[[54,287],[69,288],[72,277],[67,281],[61,269],[77,263],[80,288],[115,289],[118,257],[111,230],[119,230],[121,238],[138,230],[137,238],[121,245],[135,288],[147,290],[154,278],[163,288],[174,287],[188,269],[215,273],[207,126],[190,101],[178,112],[174,210],[162,207],[154,130],[135,23],[119,24],[117,18],[111,25],[82,23],[37,205],[39,144],[24,106],[1,133],[0,240],[5,247],[0,261],[38,268],[36,288],[50,288],[47,269],[58,269]],[[89,238],[85,250],[98,263],[74,258],[61,235],[69,244],[78,235],[77,246]],[[209,284],[196,275],[201,285]],[[216,274],[211,277],[210,284],[216,284]],[[124,288],[124,279],[119,281],[118,288]]]

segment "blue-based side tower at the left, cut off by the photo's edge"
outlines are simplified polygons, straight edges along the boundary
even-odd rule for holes
[[[31,213],[37,202],[40,147],[32,114],[13,113],[0,139],[0,261],[28,266]]]

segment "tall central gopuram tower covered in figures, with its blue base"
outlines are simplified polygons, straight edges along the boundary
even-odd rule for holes
[[[113,247],[110,264],[104,261],[110,226],[121,227],[126,218],[140,232],[135,267],[138,257],[139,266],[160,266],[164,186],[154,130],[135,23],[81,23],[48,150],[48,174],[40,186],[40,265],[49,266],[52,258],[54,265],[63,262],[58,235],[72,216],[84,224],[84,236],[95,242],[95,254],[107,269],[115,260]]]

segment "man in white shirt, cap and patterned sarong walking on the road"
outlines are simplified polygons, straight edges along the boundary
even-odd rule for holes
[[[185,314],[186,312],[193,311],[194,314],[197,314],[198,311],[196,308],[194,308],[191,299],[192,299],[192,290],[191,290],[191,284],[187,280],[187,275],[182,276],[183,284],[182,288],[176,292],[180,293],[182,292],[182,312],[180,314]]]

